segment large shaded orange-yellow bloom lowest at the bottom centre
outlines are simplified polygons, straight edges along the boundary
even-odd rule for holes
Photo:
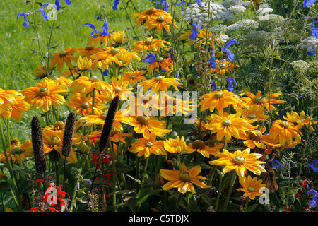
[[[199,176],[201,172],[201,167],[199,165],[196,165],[191,169],[187,169],[184,163],[182,163],[181,169],[182,172],[180,170],[160,169],[161,177],[169,181],[163,185],[163,190],[167,191],[177,188],[180,193],[184,194],[187,191],[192,193],[196,192],[193,184],[204,189],[211,188],[211,186],[204,184],[204,182],[200,182],[200,179],[206,180],[208,178]]]

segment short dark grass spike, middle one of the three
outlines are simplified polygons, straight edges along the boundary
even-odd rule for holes
[[[64,157],[69,157],[69,155],[71,155],[75,121],[76,121],[75,113],[70,112],[69,116],[66,119],[66,124],[64,127],[63,145],[61,150],[61,153]]]

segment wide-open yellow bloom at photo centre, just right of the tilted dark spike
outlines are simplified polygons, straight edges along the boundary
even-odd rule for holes
[[[151,133],[156,136],[165,136],[165,133],[170,133],[170,129],[165,129],[165,121],[158,121],[155,116],[131,116],[129,117],[131,126],[134,126],[136,133],[142,133],[143,138],[150,138]]]

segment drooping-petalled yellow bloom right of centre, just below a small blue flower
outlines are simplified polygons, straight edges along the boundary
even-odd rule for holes
[[[210,112],[213,112],[216,108],[220,115],[223,114],[223,109],[229,105],[232,105],[234,109],[240,109],[240,107],[244,106],[244,102],[240,100],[240,97],[228,90],[216,90],[201,96],[200,99],[204,99],[198,105],[202,105],[201,111],[209,109]]]

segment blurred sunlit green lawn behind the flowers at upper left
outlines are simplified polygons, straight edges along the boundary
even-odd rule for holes
[[[132,1],[137,11],[143,11],[151,6],[151,1]],[[45,2],[54,4],[54,0],[42,1],[42,3]],[[52,35],[51,45],[57,46],[57,49],[51,49],[51,54],[66,47],[86,47],[92,30],[83,23],[93,23],[98,30],[101,30],[103,22],[97,20],[97,16],[102,15],[103,6],[105,6],[110,30],[128,30],[129,37],[133,35],[132,29],[129,29],[131,24],[124,11],[123,1],[119,1],[118,11],[112,10],[111,0],[73,0],[70,6],[66,5],[65,1],[60,0],[59,2],[61,6],[66,7],[59,11],[54,24],[54,26],[59,25],[59,29],[54,30]],[[40,59],[31,51],[31,49],[38,50],[37,42],[32,39],[36,36],[34,25],[30,23],[29,28],[25,28],[22,25],[23,17],[16,19],[18,13],[32,11],[32,4],[25,4],[25,0],[3,0],[0,1],[0,7],[0,88],[22,90],[35,86],[39,81],[35,80],[33,70],[40,64]],[[39,5],[35,5],[35,7],[40,8]],[[131,4],[126,7],[126,10],[129,15],[134,12]],[[32,16],[28,16],[28,20],[32,21]],[[45,54],[49,25],[52,25],[53,21],[44,20],[40,12],[36,13],[36,21],[42,24],[39,31],[40,44],[41,50]],[[30,139],[30,120],[35,115],[40,117],[40,112],[31,107],[30,112],[23,114],[21,121],[11,120],[11,136],[18,137],[20,141]],[[1,122],[5,127],[4,121]]]

